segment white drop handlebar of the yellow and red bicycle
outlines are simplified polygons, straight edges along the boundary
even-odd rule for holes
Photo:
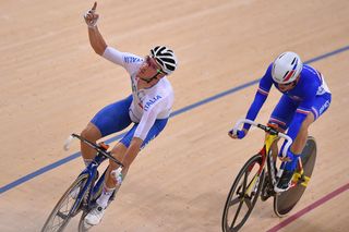
[[[290,147],[291,144],[292,144],[292,138],[291,138],[290,136],[288,136],[288,135],[286,135],[286,134],[284,134],[284,133],[281,133],[281,132],[278,132],[278,131],[276,131],[275,129],[273,129],[273,127],[270,127],[270,126],[266,126],[266,125],[256,123],[256,122],[254,122],[254,121],[252,121],[252,120],[249,120],[249,119],[240,119],[240,120],[236,123],[236,125],[234,125],[233,129],[232,129],[232,133],[233,133],[234,135],[237,135],[237,132],[238,132],[240,125],[243,124],[243,123],[248,123],[248,124],[254,125],[254,126],[256,126],[256,127],[258,127],[258,129],[262,129],[262,130],[265,131],[266,133],[269,133],[269,134],[272,134],[272,135],[277,135],[277,136],[279,136],[279,137],[285,138],[285,141],[287,141],[287,143],[286,143],[286,145],[285,145],[285,147],[284,147],[284,149],[282,149],[282,157],[287,157],[287,150],[289,149],[289,147]]]

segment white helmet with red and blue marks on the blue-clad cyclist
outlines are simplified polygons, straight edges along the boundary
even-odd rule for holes
[[[292,51],[286,51],[274,61],[272,77],[278,84],[288,84],[298,77],[302,69],[300,57]]]

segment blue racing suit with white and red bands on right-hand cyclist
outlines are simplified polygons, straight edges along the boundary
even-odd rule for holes
[[[246,118],[255,120],[263,103],[265,102],[272,86],[278,90],[278,84],[272,77],[273,63],[260,81],[260,86],[255,98],[248,111]],[[330,103],[330,91],[325,83],[324,76],[314,68],[304,64],[300,73],[297,85],[282,93],[279,102],[274,109],[269,122],[278,124],[279,127],[287,130],[287,134],[294,139],[308,113],[313,113],[316,120],[326,111]],[[249,130],[250,125],[244,124]]]

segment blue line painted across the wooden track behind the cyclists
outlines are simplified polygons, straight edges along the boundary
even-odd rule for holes
[[[347,51],[347,50],[349,50],[349,46],[346,46],[346,47],[339,48],[339,49],[337,49],[337,50],[330,51],[330,52],[328,52],[328,53],[318,56],[318,57],[316,57],[316,58],[313,58],[313,59],[311,59],[311,60],[305,61],[304,63],[313,63],[313,62],[316,62],[316,61],[318,61],[318,60],[323,60],[323,59],[325,59],[325,58],[333,57],[333,56],[335,56],[335,54],[338,54],[338,53],[344,52],[344,51]],[[186,111],[189,111],[189,110],[195,109],[195,108],[197,108],[197,107],[200,107],[200,106],[202,106],[202,105],[205,105],[205,103],[208,103],[208,102],[210,102],[210,101],[217,100],[217,99],[219,99],[219,98],[221,98],[221,97],[225,97],[225,96],[227,96],[227,95],[237,93],[237,91],[239,91],[239,90],[241,90],[241,89],[244,89],[244,88],[250,87],[250,86],[252,86],[252,85],[254,85],[254,84],[257,84],[258,82],[260,82],[260,78],[254,80],[254,81],[249,82],[249,83],[245,83],[245,84],[242,84],[242,85],[240,85],[240,86],[238,86],[238,87],[230,88],[230,89],[228,89],[228,90],[226,90],[226,91],[222,91],[222,93],[217,94],[217,95],[215,95],[215,96],[212,96],[212,97],[208,97],[208,98],[203,99],[203,100],[201,100],[201,101],[197,101],[196,103],[192,103],[192,105],[186,106],[186,107],[184,107],[184,108],[182,108],[182,109],[176,110],[176,111],[173,111],[173,112],[171,113],[171,117],[179,115],[179,114],[184,113],[184,112],[186,112]],[[119,135],[117,135],[117,136],[115,136],[115,137],[111,137],[111,138],[109,138],[108,141],[106,141],[106,143],[115,142],[115,141],[121,138],[123,135],[124,135],[124,134],[119,134]],[[23,178],[20,178],[19,180],[15,180],[15,181],[13,181],[13,182],[11,182],[11,183],[9,183],[9,184],[0,187],[0,194],[4,193],[4,192],[7,192],[7,191],[9,191],[9,190],[11,190],[11,188],[14,188],[14,187],[16,187],[17,185],[23,184],[23,183],[25,183],[25,182],[27,182],[27,181],[29,181],[29,180],[32,180],[32,179],[40,175],[40,174],[44,174],[45,172],[48,172],[48,171],[50,171],[50,170],[52,170],[52,169],[56,169],[56,168],[58,168],[58,167],[60,167],[60,166],[62,166],[62,164],[71,161],[71,160],[73,160],[73,159],[76,159],[77,157],[80,157],[80,152],[75,152],[75,154],[73,154],[73,155],[71,155],[71,156],[69,156],[69,157],[67,157],[67,158],[63,158],[63,159],[61,159],[61,160],[58,160],[57,162],[53,162],[53,163],[51,163],[51,164],[49,164],[49,166],[46,166],[46,167],[44,167],[44,168],[40,168],[39,170],[34,171],[34,172],[32,172],[32,173],[29,173],[29,174],[27,174],[27,175],[25,175],[25,176],[23,176]]]

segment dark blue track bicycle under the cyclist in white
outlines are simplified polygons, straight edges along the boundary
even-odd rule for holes
[[[98,178],[97,168],[106,159],[110,159],[118,163],[120,167],[117,170],[121,173],[123,164],[107,151],[109,145],[105,143],[94,144],[84,137],[72,134],[65,142],[64,149],[69,149],[69,146],[73,138],[77,138],[83,143],[87,144],[89,147],[97,151],[96,157],[91,164],[83,170],[76,180],[68,187],[63,196],[58,200],[57,205],[52,209],[51,213],[47,218],[41,232],[61,232],[63,231],[70,220],[82,211],[82,216],[79,221],[77,229],[80,232],[87,231],[92,225],[85,223],[85,217],[95,207],[96,199],[101,194],[101,188],[106,175],[107,169],[104,171],[103,175]],[[109,204],[115,198],[116,192],[113,192],[110,197]],[[109,205],[108,204],[108,205]]]

